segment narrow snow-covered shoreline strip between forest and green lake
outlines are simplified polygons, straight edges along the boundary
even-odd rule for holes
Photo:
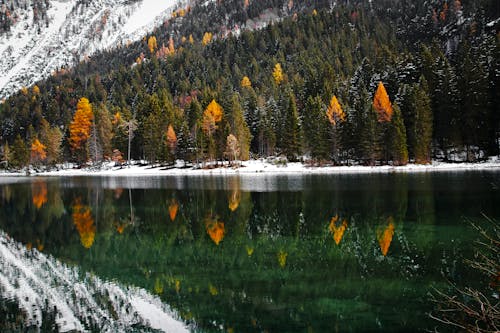
[[[130,166],[114,166],[104,164],[100,168],[75,168],[71,164],[61,165],[57,170],[30,172],[0,172],[0,177],[8,176],[170,176],[170,175],[277,175],[277,174],[366,174],[366,173],[416,173],[443,171],[500,170],[500,159],[490,158],[481,163],[444,163],[433,161],[432,164],[408,164],[405,166],[310,166],[305,163],[271,163],[266,160],[249,160],[241,166],[232,167],[227,164],[213,168],[151,166],[134,163]]]

